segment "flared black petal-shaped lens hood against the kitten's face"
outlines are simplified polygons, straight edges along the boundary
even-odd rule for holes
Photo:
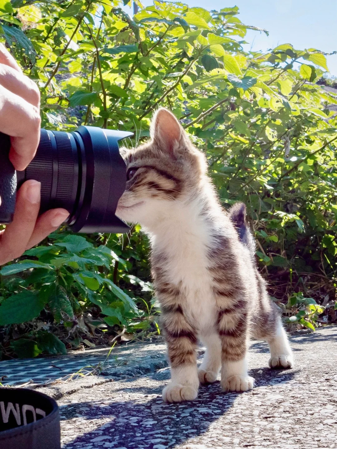
[[[74,232],[127,232],[129,226],[115,216],[126,185],[126,166],[118,141],[133,133],[80,126],[71,134],[80,147],[81,182],[78,205],[68,224]]]

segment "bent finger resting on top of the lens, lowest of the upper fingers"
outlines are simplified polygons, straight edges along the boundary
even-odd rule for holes
[[[11,136],[9,158],[16,170],[24,170],[35,156],[40,125],[36,106],[0,86],[0,131]]]

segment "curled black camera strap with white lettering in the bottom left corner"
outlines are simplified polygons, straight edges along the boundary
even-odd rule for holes
[[[0,449],[60,449],[58,405],[28,388],[0,387]]]

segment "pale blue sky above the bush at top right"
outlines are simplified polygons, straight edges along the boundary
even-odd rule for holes
[[[265,33],[248,30],[245,49],[263,50],[290,43],[296,49],[317,48],[326,53],[337,50],[336,0],[184,0],[190,6],[221,9],[238,6],[239,19],[247,25],[258,26]],[[143,0],[142,4],[152,4]],[[327,56],[330,74],[337,76],[337,55]]]

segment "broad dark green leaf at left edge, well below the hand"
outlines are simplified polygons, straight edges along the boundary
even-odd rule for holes
[[[10,296],[0,305],[0,326],[31,321],[40,315],[44,304],[44,299],[30,290]]]

